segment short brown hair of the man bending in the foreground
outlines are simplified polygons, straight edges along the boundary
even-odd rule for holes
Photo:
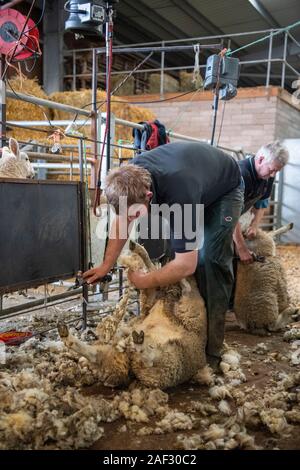
[[[145,202],[146,192],[151,187],[148,170],[137,165],[126,164],[110,170],[105,179],[107,202],[119,213],[119,198],[127,197],[127,205]]]

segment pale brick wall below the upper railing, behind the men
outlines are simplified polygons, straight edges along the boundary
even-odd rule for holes
[[[150,108],[168,129],[210,141],[212,93],[198,93],[192,100],[192,95],[187,96],[143,106]],[[159,96],[126,98],[130,101],[150,101],[159,99]],[[293,105],[291,95],[278,87],[239,89],[237,97],[225,104],[219,138],[223,108],[224,102],[221,101],[215,133],[221,146],[255,152],[264,143],[277,138],[300,138],[300,106]]]

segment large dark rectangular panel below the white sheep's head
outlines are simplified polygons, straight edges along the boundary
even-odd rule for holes
[[[0,294],[81,269],[80,183],[0,180]]]

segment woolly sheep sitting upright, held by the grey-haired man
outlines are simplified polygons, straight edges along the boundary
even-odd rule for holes
[[[285,271],[273,239],[291,228],[292,224],[269,233],[259,229],[255,239],[245,240],[251,252],[265,257],[263,262],[238,262],[233,309],[240,326],[251,333],[280,330],[297,313],[290,305]]]

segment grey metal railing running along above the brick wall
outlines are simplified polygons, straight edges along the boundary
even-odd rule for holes
[[[248,77],[248,78],[264,78],[264,84],[266,87],[270,86],[272,79],[278,80],[280,79],[280,84],[282,88],[285,88],[287,81],[294,80],[295,78],[300,76],[300,71],[296,70],[295,67],[293,67],[287,60],[288,58],[288,48],[289,45],[292,43],[294,46],[299,48],[300,51],[300,43],[296,40],[296,38],[291,34],[290,31],[285,31],[281,29],[266,29],[266,30],[259,30],[259,31],[249,31],[249,32],[244,32],[244,33],[234,33],[234,34],[224,34],[224,35],[215,35],[215,36],[200,36],[200,37],[194,37],[194,38],[189,38],[189,39],[176,39],[176,40],[165,40],[161,42],[148,42],[148,43],[139,43],[139,44],[130,44],[130,45],[118,45],[115,48],[113,48],[114,55],[121,54],[122,51],[126,51],[126,49],[134,48],[135,46],[141,48],[145,47],[147,50],[150,50],[151,47],[157,49],[157,47],[161,47],[162,50],[161,52],[157,52],[157,54],[160,54],[160,60],[157,60],[156,62],[153,62],[153,58],[151,59],[151,64],[157,64],[157,66],[149,66],[148,68],[143,68],[143,69],[138,69],[133,72],[133,76],[138,76],[141,74],[151,74],[151,73],[159,73],[160,74],[160,94],[161,96],[164,95],[166,92],[165,89],[165,75],[170,74],[171,72],[178,72],[178,71],[191,71],[194,69],[194,65],[182,65],[182,66],[166,66],[166,55],[168,51],[166,50],[169,48],[169,50],[172,50],[172,46],[175,49],[176,45],[180,43],[186,43],[186,47],[190,47],[191,43],[192,44],[199,44],[200,42],[203,44],[203,47],[205,46],[205,41],[212,41],[212,40],[220,40],[225,46],[225,43],[227,42],[227,45],[230,45],[233,39],[238,39],[238,38],[245,38],[247,36],[259,36],[262,34],[267,34],[268,35],[268,46],[266,47],[266,56],[261,59],[254,59],[254,60],[243,60],[244,53],[241,54],[240,58],[240,64],[241,64],[241,77]],[[281,48],[282,48],[282,57],[273,57],[274,55],[274,36],[280,36],[281,38]],[[178,46],[177,46],[178,47]],[[278,47],[278,46],[277,46]],[[97,48],[96,49],[98,54],[104,54],[105,53],[105,48]],[[212,49],[213,50],[213,49]],[[82,57],[85,55],[85,64],[89,63],[92,64],[92,57],[93,57],[93,49],[73,49],[73,50],[65,50],[64,51],[64,56],[65,57],[70,57],[71,58],[71,67],[72,73],[65,73],[64,74],[64,82],[65,84],[67,82],[71,83],[71,88],[73,91],[77,90],[77,88],[80,88],[80,80],[81,79],[86,79],[86,80],[92,80],[92,69],[88,71],[82,71],[79,70],[78,63],[82,63]],[[276,73],[272,73],[272,65],[279,64],[281,65],[281,71],[279,72],[278,70]],[[249,66],[254,66],[254,65],[265,65],[266,70],[265,71],[256,71],[252,73],[247,73],[245,70]],[[202,64],[200,65],[200,69],[205,69],[206,65]],[[287,75],[287,69],[289,70],[290,74]],[[128,74],[129,70],[118,70],[118,71],[112,71],[112,75],[124,75]],[[174,74],[173,74],[174,75]],[[98,72],[97,77],[101,79],[101,77],[105,76],[105,72]],[[136,78],[135,78],[136,79]],[[77,82],[78,85],[77,86]]]

